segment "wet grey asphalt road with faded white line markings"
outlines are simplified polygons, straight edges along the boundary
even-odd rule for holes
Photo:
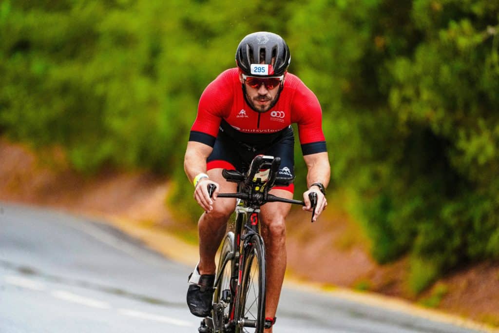
[[[194,333],[192,267],[96,221],[0,203],[0,333]],[[480,332],[284,289],[274,333]]]

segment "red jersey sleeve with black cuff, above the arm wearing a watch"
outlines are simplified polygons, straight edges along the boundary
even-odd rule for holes
[[[301,151],[310,155],[327,151],[322,131],[322,110],[315,94],[299,82],[291,101],[291,121],[298,125]]]

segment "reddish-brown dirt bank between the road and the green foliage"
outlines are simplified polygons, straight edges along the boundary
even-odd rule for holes
[[[167,256],[187,264],[197,262],[196,245],[182,240],[184,234],[194,235],[196,227],[178,226],[165,206],[167,179],[138,171],[103,171],[85,178],[69,170],[57,149],[38,155],[46,158],[0,139],[0,200],[100,216]],[[291,214],[286,279],[314,283],[324,290],[346,287],[424,303],[499,327],[499,263],[449,272],[427,292],[411,295],[405,285],[407,260],[376,264],[361,229],[331,206],[314,224],[301,210]]]

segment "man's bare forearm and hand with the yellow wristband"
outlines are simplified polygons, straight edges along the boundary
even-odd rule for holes
[[[217,198],[219,188],[219,184],[203,176],[203,174],[207,173],[206,159],[210,156],[212,151],[213,147],[209,145],[201,142],[189,141],[184,157],[184,170],[187,177],[192,183],[197,181],[197,184],[195,184],[194,199],[196,199],[198,204],[203,207],[206,212],[210,212],[213,209],[213,200]],[[196,177],[198,177],[198,179],[196,179]],[[213,200],[208,193],[208,184],[217,186],[217,189],[213,194]]]

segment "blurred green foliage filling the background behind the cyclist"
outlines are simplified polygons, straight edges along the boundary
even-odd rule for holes
[[[332,186],[372,254],[409,254],[419,292],[499,259],[499,3],[489,0],[0,0],[0,132],[72,166],[183,172],[199,96],[241,38],[271,30],[318,96]],[[296,195],[306,167],[296,145]]]

